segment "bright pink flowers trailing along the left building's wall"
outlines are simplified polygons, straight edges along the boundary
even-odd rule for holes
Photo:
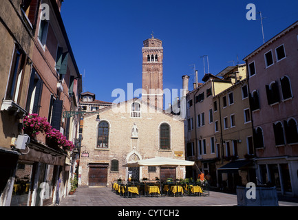
[[[46,135],[47,140],[54,142],[65,151],[72,151],[74,144],[57,129],[53,129],[51,124],[47,122],[47,118],[39,117],[37,114],[29,114],[23,120],[23,129],[28,135],[34,136],[39,133]]]

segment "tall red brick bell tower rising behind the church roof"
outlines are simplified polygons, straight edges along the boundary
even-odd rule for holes
[[[162,92],[162,41],[155,39],[144,41],[142,47],[142,100],[163,109]],[[144,91],[146,93],[144,94]]]

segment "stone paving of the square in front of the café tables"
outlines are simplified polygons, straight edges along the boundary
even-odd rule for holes
[[[211,191],[206,197],[133,197],[116,195],[109,187],[79,187],[68,195],[59,206],[237,206],[237,196]],[[298,201],[279,201],[279,206],[298,206]]]

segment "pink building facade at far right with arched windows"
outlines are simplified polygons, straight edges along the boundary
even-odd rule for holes
[[[257,184],[298,196],[298,22],[246,56]]]

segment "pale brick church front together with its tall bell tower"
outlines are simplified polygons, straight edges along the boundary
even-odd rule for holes
[[[153,157],[185,159],[184,119],[162,109],[162,41],[147,39],[142,47],[142,98],[113,104],[83,118],[78,183],[110,186],[117,179],[185,178],[185,166],[127,167]],[[96,120],[100,117],[100,121]]]

